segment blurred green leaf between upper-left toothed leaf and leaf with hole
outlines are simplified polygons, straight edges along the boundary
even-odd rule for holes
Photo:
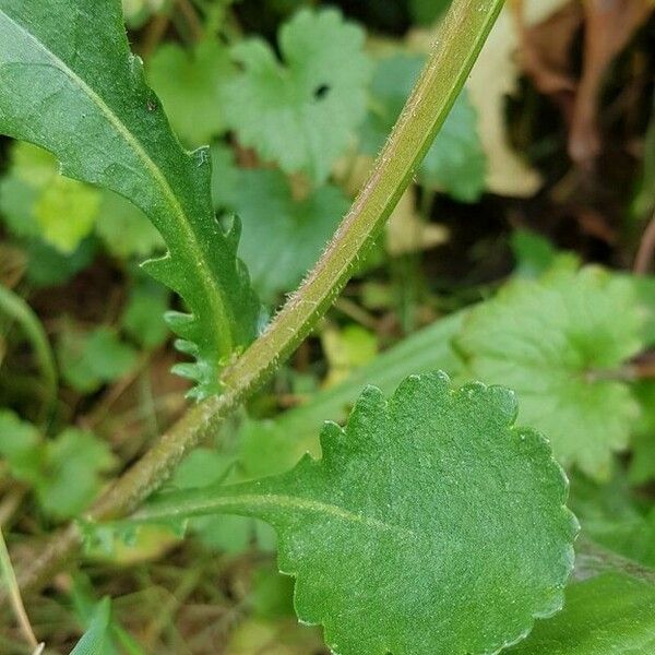
[[[189,51],[164,44],[147,62],[147,79],[164,105],[170,124],[189,145],[209,143],[225,132],[226,83],[235,69],[227,48],[202,40]]]

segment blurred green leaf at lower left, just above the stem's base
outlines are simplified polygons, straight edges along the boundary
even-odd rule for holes
[[[100,490],[100,474],[115,464],[108,445],[85,430],[68,428],[45,442],[44,469],[36,495],[56,519],[78,516]]]

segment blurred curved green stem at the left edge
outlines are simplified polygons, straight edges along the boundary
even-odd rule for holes
[[[57,400],[57,367],[46,332],[31,307],[20,296],[2,285],[0,285],[0,312],[7,314],[23,327],[23,332],[34,347],[46,383],[47,413]]]

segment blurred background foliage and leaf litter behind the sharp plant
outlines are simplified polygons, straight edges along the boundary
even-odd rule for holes
[[[240,217],[239,254],[272,313],[366,179],[440,2],[123,9],[180,141],[211,145],[214,207]],[[509,2],[384,238],[171,485],[282,471],[317,452],[321,421],[342,420],[364,383],[441,368],[514,386],[521,418],[570,466],[587,533],[655,565],[654,46],[648,0]],[[179,300],[139,267],[162,248],[130,203],[0,140],[0,525],[19,562],[187,406],[162,319]],[[47,653],[70,652],[105,595],[108,653],[323,653],[274,549],[266,526],[236,517],[96,532],[29,615]],[[10,616],[0,651],[28,652]]]

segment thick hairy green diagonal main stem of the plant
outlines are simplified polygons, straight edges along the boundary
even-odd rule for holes
[[[170,475],[183,455],[234,412],[305,340],[338,296],[445,121],[500,12],[502,0],[454,0],[433,52],[407,100],[373,171],[334,239],[266,332],[222,376],[224,392],[190,409],[94,505],[90,520],[134,510]],[[69,557],[80,537],[66,532],[67,547],[51,543],[21,577],[37,586]]]

